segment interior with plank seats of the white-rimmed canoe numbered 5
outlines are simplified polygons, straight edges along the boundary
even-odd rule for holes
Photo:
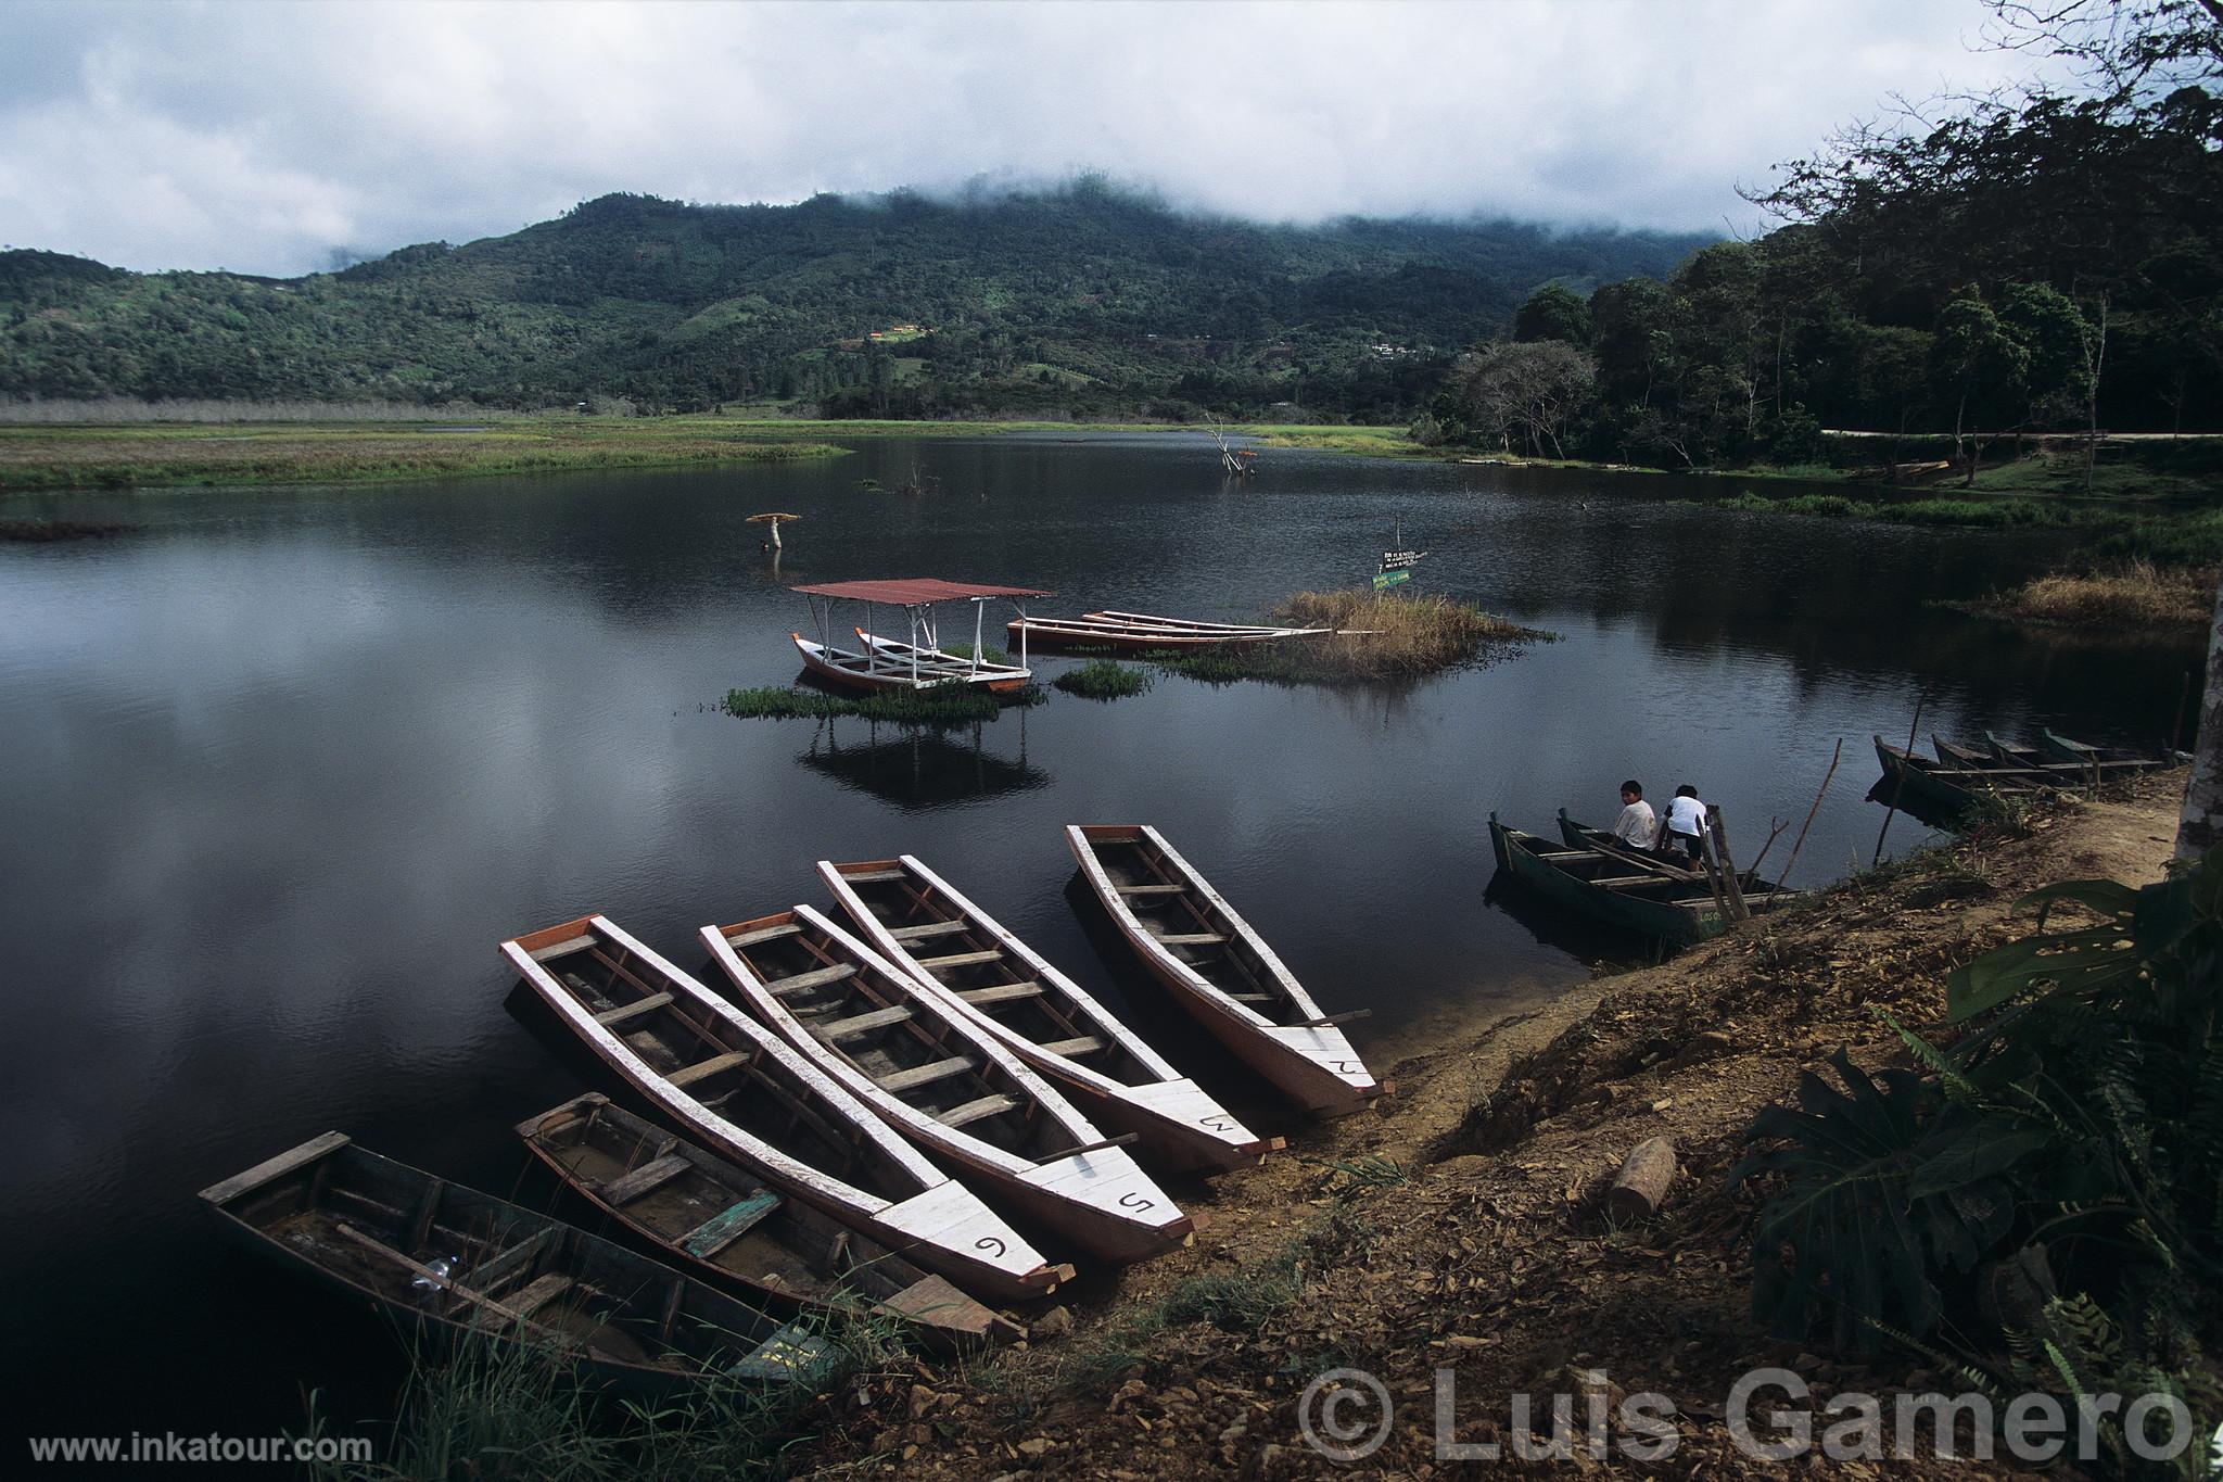
[[[1014,1158],[1076,1146],[1060,1118],[980,1040],[874,955],[794,911],[722,929],[742,967],[829,1055],[903,1104]]]

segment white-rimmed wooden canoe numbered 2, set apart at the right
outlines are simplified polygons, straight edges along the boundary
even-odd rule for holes
[[[1334,1118],[1392,1091],[1274,949],[1156,829],[1067,824],[1065,838],[1143,967],[1285,1095]]]

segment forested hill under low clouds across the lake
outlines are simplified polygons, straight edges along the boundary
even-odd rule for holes
[[[514,236],[291,280],[0,253],[0,398],[1405,415],[1445,356],[1509,329],[1538,284],[1663,276],[1703,240],[1263,227],[1094,180],[958,204],[605,196]]]

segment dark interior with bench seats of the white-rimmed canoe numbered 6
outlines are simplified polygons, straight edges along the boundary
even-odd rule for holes
[[[542,935],[556,933],[520,938],[520,944],[531,951]],[[571,942],[578,947],[562,955],[542,955],[540,967],[654,1071],[678,1078],[676,1084],[682,1084],[687,1095],[796,1162],[831,1173],[845,1184],[889,1202],[918,1191],[914,1180],[878,1155],[869,1133],[849,1111],[829,1104],[778,1058],[765,1053],[747,1029],[734,1027],[694,993],[678,989],[654,962],[596,935],[591,927],[585,935],[556,942],[554,949]],[[651,1002],[658,998],[667,1002]]]

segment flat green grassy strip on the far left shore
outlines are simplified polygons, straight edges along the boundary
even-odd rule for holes
[[[500,420],[405,424],[0,424],[0,493],[151,484],[342,484],[487,473],[834,458],[825,442],[716,422]]]

